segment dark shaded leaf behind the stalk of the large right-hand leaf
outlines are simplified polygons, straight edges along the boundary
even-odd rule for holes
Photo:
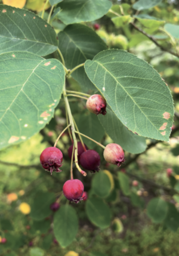
[[[60,38],[59,48],[63,54],[67,69],[73,69],[73,67],[85,63],[86,60],[92,60],[100,51],[107,49],[107,45],[100,36],[90,27],[82,24],[67,26],[58,33],[58,38]],[[89,89],[95,90],[94,85],[85,73],[84,67],[75,70],[72,73],[72,77],[86,91]]]

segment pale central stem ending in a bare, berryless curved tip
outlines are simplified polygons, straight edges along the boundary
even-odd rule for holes
[[[72,125],[71,130],[72,130],[72,137],[73,137],[73,143],[75,144],[75,164],[76,164],[76,168],[78,169],[79,172],[81,172],[82,175],[87,176],[87,172],[83,171],[78,164],[78,143],[76,140],[76,134],[75,134],[75,125],[73,122],[73,116],[72,116],[72,112],[70,109],[70,105],[69,105],[69,101],[68,98],[66,97],[66,88],[63,88],[63,97],[64,97],[64,102],[66,104],[66,108],[67,108],[67,113],[69,115],[69,121],[70,124]]]

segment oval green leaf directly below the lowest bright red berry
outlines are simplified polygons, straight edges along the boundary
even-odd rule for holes
[[[70,205],[63,205],[54,215],[54,235],[61,247],[72,243],[78,232],[78,216]]]

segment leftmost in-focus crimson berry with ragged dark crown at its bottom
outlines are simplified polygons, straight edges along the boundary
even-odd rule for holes
[[[44,149],[41,153],[40,161],[42,167],[46,171],[50,171],[52,175],[53,171],[61,172],[59,167],[63,165],[61,163],[63,161],[63,154],[60,149],[57,149],[57,147],[47,147],[47,149]]]

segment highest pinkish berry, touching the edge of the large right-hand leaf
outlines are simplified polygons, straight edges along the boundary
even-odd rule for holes
[[[87,100],[87,109],[95,115],[106,115],[106,100],[100,94],[91,95]]]

